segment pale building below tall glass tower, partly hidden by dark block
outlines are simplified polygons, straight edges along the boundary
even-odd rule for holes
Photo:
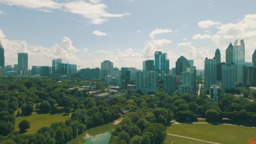
[[[240,62],[236,64],[236,82],[240,82],[243,85],[243,68],[244,67],[253,67],[252,62]]]

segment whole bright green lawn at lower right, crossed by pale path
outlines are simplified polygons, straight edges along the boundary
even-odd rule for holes
[[[174,124],[167,127],[166,133],[187,136],[204,141],[234,144],[248,143],[248,139],[256,137],[256,128],[225,124]],[[170,141],[172,142],[173,140],[175,142],[175,139],[177,139],[177,142],[182,142],[184,140],[189,142],[191,141],[190,143],[200,143],[200,141],[172,136],[170,138],[168,138],[168,136],[166,137],[166,143],[170,143]]]

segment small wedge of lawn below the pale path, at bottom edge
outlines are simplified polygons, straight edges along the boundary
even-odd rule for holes
[[[166,136],[165,139],[166,144],[205,144],[206,142],[196,141],[196,140],[189,140],[185,139],[183,137],[177,137],[177,136]]]

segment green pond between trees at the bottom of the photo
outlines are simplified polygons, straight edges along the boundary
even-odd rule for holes
[[[112,123],[104,124],[99,127],[91,128],[84,131],[83,134],[78,135],[75,139],[67,142],[68,144],[107,144],[115,125]]]

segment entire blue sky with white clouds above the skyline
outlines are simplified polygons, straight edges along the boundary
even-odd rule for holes
[[[256,47],[256,1],[218,0],[0,0],[0,40],[5,65],[28,53],[28,65],[52,59],[100,67],[142,69],[154,51],[166,52],[170,68],[178,57],[203,69],[236,39],[245,40],[246,62]]]

